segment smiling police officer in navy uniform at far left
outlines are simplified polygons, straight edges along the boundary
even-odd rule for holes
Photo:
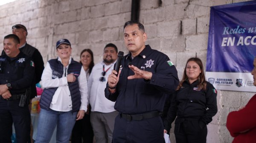
[[[15,34],[4,37],[0,56],[0,140],[11,143],[14,123],[17,143],[27,143],[30,133],[29,96],[27,90],[34,77],[34,62],[20,50]]]

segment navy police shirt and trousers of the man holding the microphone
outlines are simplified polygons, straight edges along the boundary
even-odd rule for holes
[[[151,72],[151,80],[128,80],[128,76],[134,75],[128,64]],[[179,82],[176,67],[168,56],[146,45],[134,59],[131,53],[124,56],[120,70],[116,92],[111,94],[108,86],[105,89],[105,97],[116,101],[114,108],[119,111],[115,120],[113,143],[163,142],[163,122],[160,116],[141,120],[125,119],[121,116],[163,112],[167,95],[165,93],[173,93]]]

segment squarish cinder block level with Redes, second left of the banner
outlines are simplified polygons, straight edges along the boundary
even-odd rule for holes
[[[183,35],[196,34],[196,19],[182,20],[182,34]]]

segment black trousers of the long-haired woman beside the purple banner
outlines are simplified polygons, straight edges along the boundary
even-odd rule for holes
[[[183,121],[175,123],[174,133],[176,143],[206,143],[207,126],[201,129],[198,120]]]

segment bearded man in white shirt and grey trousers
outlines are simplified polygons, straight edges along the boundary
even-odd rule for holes
[[[116,45],[109,43],[103,52],[103,61],[96,64],[88,79],[88,97],[91,105],[90,121],[96,143],[111,143],[114,121],[118,112],[115,102],[105,98],[107,78],[114,68],[117,59]]]

